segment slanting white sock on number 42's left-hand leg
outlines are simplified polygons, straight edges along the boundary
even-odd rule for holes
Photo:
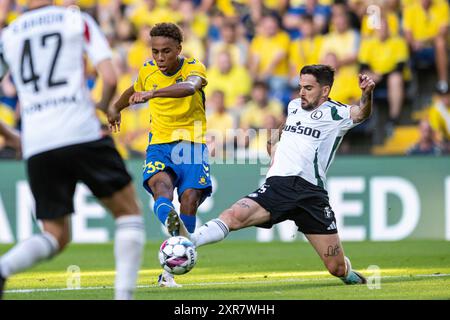
[[[34,235],[18,243],[0,258],[0,274],[8,278],[42,260],[51,258],[58,249],[58,241],[50,233]]]

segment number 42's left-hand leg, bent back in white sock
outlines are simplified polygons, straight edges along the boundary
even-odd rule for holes
[[[0,299],[10,276],[52,258],[69,242],[69,216],[42,222],[43,233],[18,243],[0,258]]]

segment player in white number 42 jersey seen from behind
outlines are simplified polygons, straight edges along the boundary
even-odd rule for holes
[[[131,176],[95,115],[95,107],[107,111],[117,84],[111,50],[95,21],[76,8],[56,7],[50,0],[30,0],[28,8],[2,30],[0,75],[8,67],[17,86],[22,151],[43,231],[0,257],[0,296],[7,278],[69,243],[73,195],[81,181],[116,220],[115,298],[131,299],[144,222]],[[104,81],[97,106],[85,84],[84,53]]]

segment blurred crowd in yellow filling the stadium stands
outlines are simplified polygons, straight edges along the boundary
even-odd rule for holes
[[[352,130],[340,148],[355,154],[450,153],[447,0],[57,0],[77,5],[100,24],[114,49],[117,93],[151,59],[149,31],[175,22],[184,32],[182,54],[207,67],[208,129],[277,128],[298,93],[307,64],[336,69],[331,98],[357,103],[358,73],[377,80],[374,115]],[[0,3],[0,24],[26,10],[26,0]],[[94,100],[102,81],[87,63]],[[14,81],[4,79],[0,119],[20,129]],[[99,114],[100,116],[100,114]],[[125,158],[143,157],[150,127],[147,104],[122,112],[114,138]],[[105,127],[105,130],[106,127]],[[265,152],[264,132],[248,139],[211,136],[213,153],[231,148]],[[2,146],[0,158],[14,157]]]

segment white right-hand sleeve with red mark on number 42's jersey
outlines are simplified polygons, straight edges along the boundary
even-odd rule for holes
[[[112,52],[108,41],[94,19],[83,13],[83,24],[84,49],[91,62],[96,66],[101,61],[111,58]]]

